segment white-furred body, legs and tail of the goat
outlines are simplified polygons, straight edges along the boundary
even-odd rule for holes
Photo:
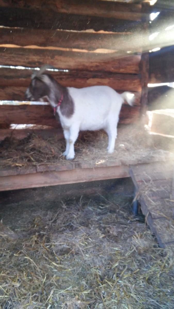
[[[124,92],[121,95],[108,86],[86,88],[67,87],[74,102],[74,114],[71,118],[63,116],[60,107],[57,112],[66,140],[66,159],[73,159],[74,143],[80,130],[104,129],[108,134],[108,153],[112,153],[117,137],[117,124],[121,106],[126,100],[132,105],[133,94]],[[50,102],[51,103],[51,102]],[[51,104],[52,105],[52,104]]]

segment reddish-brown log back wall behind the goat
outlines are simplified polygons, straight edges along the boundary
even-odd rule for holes
[[[140,116],[147,84],[148,68],[141,70],[145,20],[133,3],[0,0],[0,65],[50,64],[61,70],[51,74],[63,86],[132,91],[135,106],[123,105],[120,114],[120,122],[131,123]],[[0,68],[0,100],[23,100],[30,76],[31,70]],[[11,123],[59,126],[48,105],[0,105],[0,125]]]

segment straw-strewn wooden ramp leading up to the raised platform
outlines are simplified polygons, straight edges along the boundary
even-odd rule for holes
[[[174,246],[174,163],[131,165],[142,213],[159,246]]]

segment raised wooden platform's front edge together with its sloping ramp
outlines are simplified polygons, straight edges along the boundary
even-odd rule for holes
[[[89,166],[66,161],[64,165],[10,168],[0,171],[0,191],[130,177],[142,213],[159,246],[174,246],[174,161]]]

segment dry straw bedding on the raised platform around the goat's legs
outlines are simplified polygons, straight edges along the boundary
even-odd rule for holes
[[[57,136],[44,140],[34,134],[22,141],[6,138],[0,147],[0,167],[28,167],[38,165],[66,165],[61,156],[65,148],[64,139]],[[121,165],[165,161],[174,154],[156,148],[152,137],[139,125],[121,125],[115,152],[108,154],[107,134],[103,131],[86,132],[75,144],[76,158],[73,162],[95,165]]]

